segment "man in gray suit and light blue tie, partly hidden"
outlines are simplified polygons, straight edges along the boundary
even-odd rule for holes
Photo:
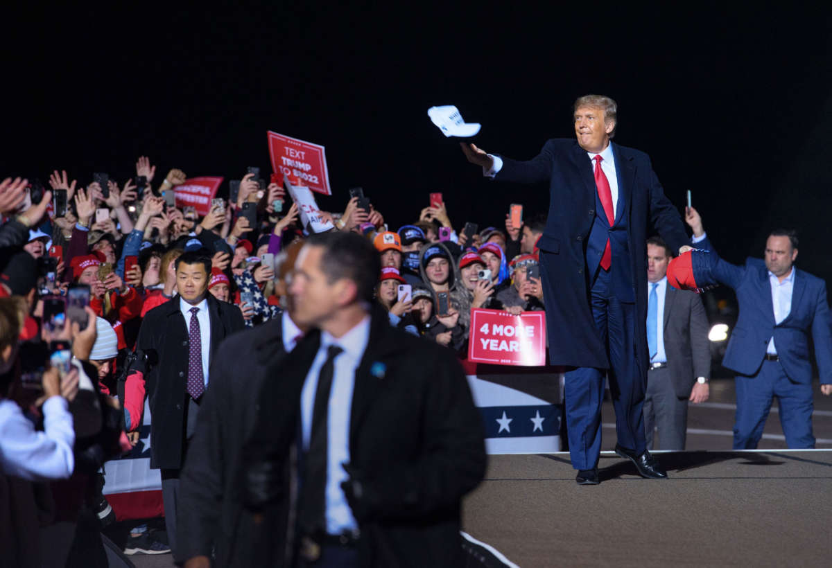
[[[656,427],[656,449],[684,450],[688,402],[704,403],[709,395],[711,348],[705,306],[699,294],[667,284],[670,259],[664,240],[647,239],[646,328],[651,353],[642,412],[648,450],[654,447]]]

